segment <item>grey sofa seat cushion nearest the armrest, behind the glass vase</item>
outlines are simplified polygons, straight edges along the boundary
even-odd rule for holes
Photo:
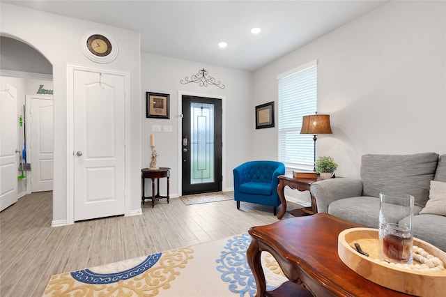
[[[414,206],[413,214],[417,215],[421,209],[420,206]],[[362,196],[339,199],[330,203],[328,213],[349,222],[378,229],[379,198]],[[395,216],[390,222],[397,223],[401,219],[403,218]]]

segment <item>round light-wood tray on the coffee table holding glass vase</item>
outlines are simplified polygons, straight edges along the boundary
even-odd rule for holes
[[[365,257],[356,251],[359,243]],[[446,266],[446,252],[426,241],[413,238],[413,245],[423,248],[434,257],[438,257]],[[339,233],[339,258],[353,271],[371,282],[383,287],[415,296],[445,296],[446,269],[443,271],[416,271],[383,264],[378,256],[378,229],[351,228]],[[414,260],[414,264],[415,264]]]

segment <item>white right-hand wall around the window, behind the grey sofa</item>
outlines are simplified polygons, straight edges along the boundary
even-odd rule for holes
[[[254,73],[254,104],[275,100],[277,75],[318,60],[318,113],[332,135],[317,155],[359,178],[366,153],[446,153],[445,2],[392,1]],[[277,158],[276,128],[252,130],[256,158]],[[266,141],[270,139],[270,141]]]

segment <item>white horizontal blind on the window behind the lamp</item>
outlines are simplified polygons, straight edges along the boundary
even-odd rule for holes
[[[302,116],[316,114],[317,61],[277,76],[279,83],[279,161],[286,167],[313,169],[314,140],[300,134]]]

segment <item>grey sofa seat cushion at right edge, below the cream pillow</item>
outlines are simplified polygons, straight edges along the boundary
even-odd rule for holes
[[[403,219],[402,222],[406,220]],[[415,238],[446,252],[446,217],[443,215],[414,215],[412,231]]]

